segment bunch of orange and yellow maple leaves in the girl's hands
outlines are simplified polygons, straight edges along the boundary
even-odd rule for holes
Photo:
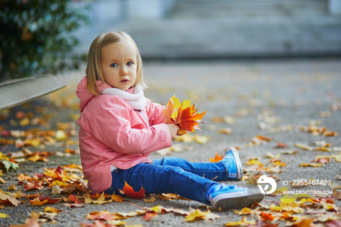
[[[185,100],[180,103],[179,99],[172,96],[168,100],[167,108],[163,111],[163,117],[166,124],[175,124],[179,127],[179,134],[183,135],[187,132],[194,132],[195,129],[199,129],[199,123],[204,113],[196,113],[197,109],[193,105],[190,105],[190,100]]]

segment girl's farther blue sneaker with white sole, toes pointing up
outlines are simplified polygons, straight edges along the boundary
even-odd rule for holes
[[[243,176],[243,166],[240,161],[238,151],[235,148],[228,148],[225,157],[221,162],[227,163],[228,176],[227,179],[240,180]]]

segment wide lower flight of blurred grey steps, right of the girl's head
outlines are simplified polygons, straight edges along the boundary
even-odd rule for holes
[[[148,26],[143,26],[148,24]],[[145,58],[323,56],[341,53],[341,18],[165,19],[126,23]]]

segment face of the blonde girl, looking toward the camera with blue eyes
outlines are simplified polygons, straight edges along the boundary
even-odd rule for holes
[[[107,84],[126,91],[136,79],[136,48],[131,41],[124,45],[112,43],[101,50],[102,74]]]

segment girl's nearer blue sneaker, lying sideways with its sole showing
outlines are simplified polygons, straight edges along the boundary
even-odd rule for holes
[[[264,194],[259,189],[247,189],[234,185],[222,184],[208,195],[208,201],[215,210],[227,210],[261,202]]]

